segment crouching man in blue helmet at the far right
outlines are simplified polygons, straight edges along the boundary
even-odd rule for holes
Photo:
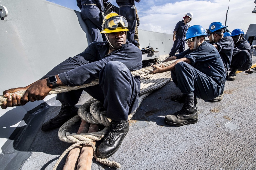
[[[232,61],[229,72],[228,80],[236,79],[236,71],[248,70],[252,66],[252,53],[251,46],[243,37],[244,33],[241,29],[234,29],[231,32],[231,37],[235,43],[235,47],[232,54]]]

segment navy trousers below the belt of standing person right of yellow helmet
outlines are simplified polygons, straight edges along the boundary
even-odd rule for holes
[[[136,10],[132,9],[131,6],[122,6],[119,8],[119,15],[126,18],[129,25],[127,28],[129,31],[127,31],[126,39],[130,43],[133,43],[136,26]]]

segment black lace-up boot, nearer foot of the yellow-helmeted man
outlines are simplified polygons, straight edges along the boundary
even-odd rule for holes
[[[108,158],[120,147],[129,130],[128,121],[114,121],[110,124],[110,131],[97,149],[98,158]]]

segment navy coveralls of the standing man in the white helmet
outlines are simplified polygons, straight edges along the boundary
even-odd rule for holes
[[[179,53],[182,53],[185,49],[185,38],[186,38],[186,33],[188,30],[189,25],[185,25],[184,20],[179,21],[175,29],[173,30],[176,31],[176,40],[173,43],[173,48],[171,49],[169,56],[174,56],[177,50],[179,50]]]

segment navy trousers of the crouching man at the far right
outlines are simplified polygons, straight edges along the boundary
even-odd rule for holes
[[[245,71],[252,67],[252,57],[247,50],[242,50],[236,55],[232,56],[230,68],[238,71]]]

